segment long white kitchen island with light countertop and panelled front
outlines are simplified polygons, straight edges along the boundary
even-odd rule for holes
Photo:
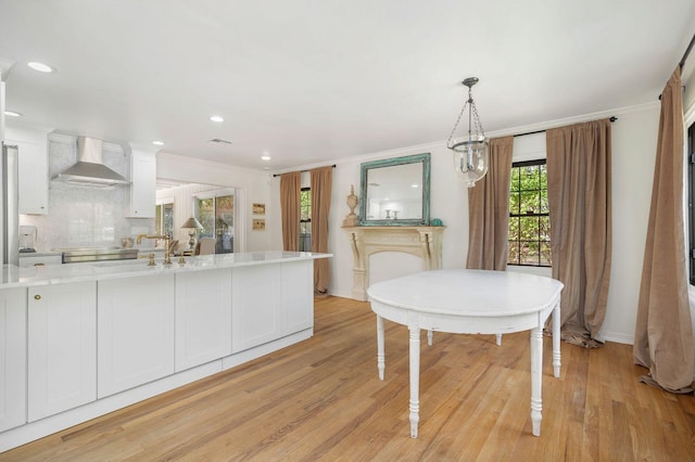
[[[2,267],[0,452],[309,338],[328,257]]]

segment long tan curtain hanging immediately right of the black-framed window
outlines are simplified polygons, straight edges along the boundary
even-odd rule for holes
[[[563,339],[597,347],[610,281],[610,120],[545,136],[553,278],[565,284]]]

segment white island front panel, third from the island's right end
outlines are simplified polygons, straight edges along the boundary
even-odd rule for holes
[[[231,269],[176,274],[176,372],[231,355]]]

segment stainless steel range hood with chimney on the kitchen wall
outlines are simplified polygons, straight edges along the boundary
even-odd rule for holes
[[[93,138],[77,138],[77,164],[55,176],[56,180],[72,184],[109,188],[130,184],[130,181],[103,164],[103,141]]]

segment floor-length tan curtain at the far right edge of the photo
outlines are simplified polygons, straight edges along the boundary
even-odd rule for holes
[[[647,242],[633,355],[649,368],[643,382],[693,392],[693,328],[683,232],[683,101],[680,66],[661,93]]]

